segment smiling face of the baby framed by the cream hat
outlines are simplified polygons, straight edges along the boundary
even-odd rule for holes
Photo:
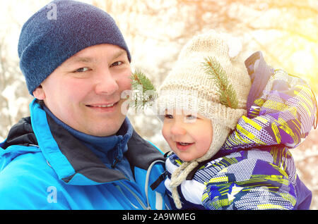
[[[213,136],[210,119],[198,113],[176,113],[175,110],[173,113],[165,112],[162,132],[172,151],[182,161],[204,156],[211,146]]]

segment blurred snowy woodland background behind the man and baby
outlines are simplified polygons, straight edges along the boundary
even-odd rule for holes
[[[28,18],[50,1],[0,0],[0,142],[12,125],[29,116],[33,97],[18,66],[18,37]],[[215,29],[242,42],[245,58],[262,51],[273,68],[310,82],[318,94],[317,0],[83,0],[112,15],[126,39],[132,68],[159,87],[179,50],[196,34]],[[57,15],[58,16],[58,15]],[[129,113],[139,134],[163,151],[161,123],[152,113]],[[294,156],[298,175],[312,190],[318,209],[318,130],[312,130]]]

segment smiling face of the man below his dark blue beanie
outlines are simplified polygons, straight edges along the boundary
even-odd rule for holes
[[[33,95],[73,129],[114,135],[125,119],[121,93],[131,89],[130,75],[124,49],[112,44],[90,46],[64,61]]]

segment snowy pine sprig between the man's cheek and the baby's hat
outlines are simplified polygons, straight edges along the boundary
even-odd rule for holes
[[[153,103],[157,98],[157,90],[146,75],[136,70],[131,75],[131,89],[133,90],[133,102],[131,106],[135,108],[144,108],[146,105]]]

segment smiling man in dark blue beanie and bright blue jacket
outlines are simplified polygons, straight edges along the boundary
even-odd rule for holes
[[[30,117],[0,144],[0,209],[166,209],[163,155],[122,113],[131,55],[114,20],[52,1],[24,25]]]

